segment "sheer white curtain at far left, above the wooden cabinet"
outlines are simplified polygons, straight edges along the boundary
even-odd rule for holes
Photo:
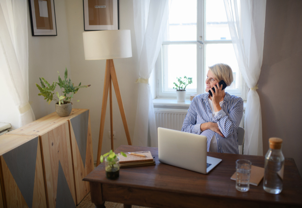
[[[0,0],[0,60],[1,75],[7,75],[1,90],[12,95],[22,127],[35,120],[28,102],[27,1]]]

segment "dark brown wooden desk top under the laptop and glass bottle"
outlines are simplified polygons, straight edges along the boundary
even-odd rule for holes
[[[292,158],[285,158],[283,190],[275,195],[263,190],[263,180],[258,186],[250,185],[248,192],[236,190],[236,181],[231,180],[231,176],[236,171],[237,159],[248,159],[253,165],[264,167],[263,156],[209,152],[208,156],[220,158],[222,161],[205,175],[159,162],[158,148],[122,145],[115,153],[120,151],[150,151],[155,157],[156,165],[120,169],[119,178],[109,180],[106,178],[104,163],[102,163],[83,180],[209,197],[302,205],[302,180]]]

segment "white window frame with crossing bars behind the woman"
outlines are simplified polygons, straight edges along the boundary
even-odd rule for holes
[[[191,94],[201,94],[201,93],[205,93],[205,84],[204,84],[204,80],[205,80],[205,47],[207,44],[232,44],[232,40],[209,40],[207,41],[205,38],[205,0],[197,0],[197,23],[196,23],[196,40],[200,40],[204,43],[204,45],[198,43],[197,41],[163,41],[162,43],[162,47],[161,50],[159,52],[159,56],[157,58],[156,61],[156,65],[155,65],[155,69],[156,69],[156,79],[157,79],[157,86],[156,86],[156,97],[157,98],[176,98],[176,91],[174,92],[164,92],[163,88],[164,88],[164,67],[163,64],[165,64],[165,62],[163,62],[163,59],[165,58],[165,54],[163,51],[163,46],[164,45],[174,45],[174,44],[195,44],[196,45],[196,55],[197,58],[197,92],[190,92],[187,91],[186,93],[186,99],[190,98]],[[202,12],[200,12],[202,11]],[[199,20],[199,21],[198,21]],[[168,26],[167,26],[168,27]],[[199,35],[201,34],[201,35]],[[241,83],[241,94],[238,93],[232,93],[232,89],[229,89],[228,92],[230,94],[242,97],[243,100],[247,99],[247,92],[248,92],[248,88],[246,85],[246,82],[244,81],[241,73],[240,73],[240,83]]]

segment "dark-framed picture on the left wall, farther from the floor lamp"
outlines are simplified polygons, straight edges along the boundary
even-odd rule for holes
[[[29,0],[30,22],[33,36],[55,36],[54,0]]]

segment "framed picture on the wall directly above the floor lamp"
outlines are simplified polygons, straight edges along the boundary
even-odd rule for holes
[[[118,0],[83,0],[84,30],[118,30]]]

